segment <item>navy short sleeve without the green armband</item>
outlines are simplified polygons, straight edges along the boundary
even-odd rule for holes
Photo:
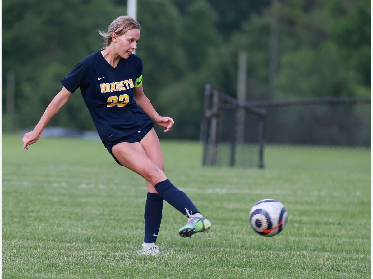
[[[87,86],[90,80],[90,69],[88,63],[80,61],[75,68],[60,82],[67,90],[74,93],[79,87]]]

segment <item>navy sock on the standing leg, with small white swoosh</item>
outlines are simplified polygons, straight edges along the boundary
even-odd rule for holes
[[[163,199],[158,194],[148,193],[145,203],[145,243],[156,242],[162,220]]]

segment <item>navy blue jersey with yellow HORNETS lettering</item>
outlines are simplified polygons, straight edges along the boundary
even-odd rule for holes
[[[71,93],[80,87],[102,141],[131,135],[152,122],[134,100],[134,89],[142,84],[142,61],[135,54],[120,58],[113,68],[100,50],[95,51],[61,83]]]

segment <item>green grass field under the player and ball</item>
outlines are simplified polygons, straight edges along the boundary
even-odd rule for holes
[[[266,169],[201,167],[198,142],[163,141],[167,177],[213,227],[181,238],[167,203],[143,256],[144,180],[101,142],[2,136],[3,278],[371,278],[370,149],[265,148]],[[288,211],[261,237],[248,222],[264,198]]]

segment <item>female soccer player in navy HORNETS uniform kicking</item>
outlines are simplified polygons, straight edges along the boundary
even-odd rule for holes
[[[148,186],[145,203],[145,237],[142,250],[157,254],[155,245],[162,219],[163,200],[188,218],[179,230],[183,237],[207,231],[211,222],[204,219],[188,196],[176,188],[163,173],[161,146],[153,121],[171,129],[174,121],[160,116],[142,89],[142,60],[137,49],[141,26],[129,16],[120,16],[100,31],[106,48],[80,61],[61,80],[62,90],[54,97],[34,130],[23,137],[23,149],[35,143],[48,121],[56,115],[80,87],[85,104],[106,149],[121,166],[140,174]],[[152,121],[153,120],[153,121]]]

